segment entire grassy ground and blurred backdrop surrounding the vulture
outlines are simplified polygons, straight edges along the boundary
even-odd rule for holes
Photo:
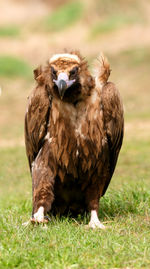
[[[150,5],[21,2],[0,3],[0,269],[150,268]],[[124,102],[124,143],[100,202],[104,231],[89,230],[89,216],[22,226],[32,211],[23,135],[32,69],[68,46],[91,66],[104,51]]]

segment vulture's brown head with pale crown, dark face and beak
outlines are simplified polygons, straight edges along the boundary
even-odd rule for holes
[[[49,59],[44,75],[40,69],[34,74],[38,83],[49,85],[51,94],[66,102],[76,103],[83,96],[90,95],[94,87],[87,62],[79,52],[55,54]]]

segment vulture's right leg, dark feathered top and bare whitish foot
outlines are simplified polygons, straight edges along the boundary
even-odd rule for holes
[[[86,193],[86,204],[87,209],[91,213],[91,218],[88,226],[92,229],[105,229],[105,226],[100,222],[98,218],[98,209],[99,209],[99,186],[95,184],[91,184]]]

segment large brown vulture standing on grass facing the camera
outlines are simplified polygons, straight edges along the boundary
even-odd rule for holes
[[[123,139],[123,105],[101,55],[95,75],[79,52],[53,55],[34,70],[37,86],[25,115],[25,144],[32,176],[32,222],[46,214],[91,212],[112,178]]]

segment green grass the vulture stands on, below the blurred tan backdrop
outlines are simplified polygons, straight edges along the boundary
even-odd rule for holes
[[[31,214],[25,149],[1,149],[0,268],[148,268],[148,148],[147,140],[125,140],[115,176],[101,199],[105,231],[87,229],[88,216],[52,217],[47,227],[22,226]]]

